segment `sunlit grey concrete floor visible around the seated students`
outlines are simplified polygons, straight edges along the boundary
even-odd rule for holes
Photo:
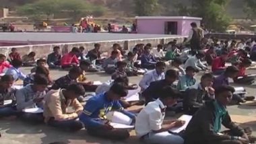
[[[29,73],[31,68],[22,68],[24,73]],[[251,69],[249,73],[255,73],[255,70]],[[66,75],[67,71],[51,71],[51,77],[57,79],[63,75]],[[88,73],[88,79],[91,81],[106,81],[110,79],[109,75],[104,73]],[[202,73],[196,75],[197,79]],[[130,77],[131,83],[139,83],[142,76]],[[246,86],[248,96],[255,96],[256,85]],[[228,106],[228,111],[232,115],[232,120],[238,122],[242,126],[250,126],[253,128],[253,135],[256,136],[256,102],[248,102],[240,106]],[[58,131],[52,127],[46,125],[30,125],[24,124],[17,119],[0,120],[0,144],[48,144],[55,141],[62,141],[71,144],[84,144],[84,143],[102,143],[102,144],[122,144],[122,143],[140,143],[139,139],[135,137],[135,132],[131,131],[131,137],[126,141],[108,141],[99,139],[96,137],[90,137],[87,135],[86,130],[79,131],[77,133],[66,133]]]

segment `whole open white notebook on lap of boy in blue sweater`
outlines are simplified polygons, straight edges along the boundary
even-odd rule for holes
[[[112,118],[110,120],[110,125],[115,129],[133,129],[134,126],[131,125],[133,121],[129,116],[121,112],[113,112]]]

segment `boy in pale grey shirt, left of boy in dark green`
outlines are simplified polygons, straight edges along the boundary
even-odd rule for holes
[[[111,52],[111,56],[108,57],[108,59],[104,59],[103,64],[102,64],[102,68],[104,69],[104,71],[108,74],[113,74],[116,71],[115,65],[117,63],[117,56],[118,56],[119,52],[117,50],[113,50]]]

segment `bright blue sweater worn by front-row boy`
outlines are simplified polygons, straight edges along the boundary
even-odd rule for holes
[[[130,118],[135,118],[135,114],[124,110],[118,100],[110,101],[104,93],[88,100],[83,113],[79,116],[79,120],[84,123],[86,128],[101,127],[104,125],[104,120],[106,120],[106,114],[112,109],[119,110]]]

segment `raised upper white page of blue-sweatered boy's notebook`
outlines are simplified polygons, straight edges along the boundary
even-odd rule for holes
[[[133,120],[121,112],[113,112],[111,122],[130,125]]]

